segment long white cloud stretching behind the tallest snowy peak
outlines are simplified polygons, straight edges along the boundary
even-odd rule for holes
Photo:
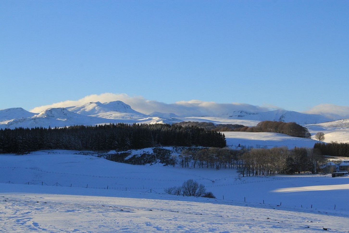
[[[178,101],[167,104],[163,102],[146,100],[142,96],[129,96],[127,94],[103,93],[100,95],[88,95],[80,100],[67,100],[53,103],[31,109],[31,112],[41,112],[47,108],[66,108],[71,106],[83,105],[88,102],[110,102],[120,100],[131,106],[132,109],[150,114],[151,112],[174,113],[180,116],[203,116],[203,115],[229,115],[232,111],[268,111],[268,107],[259,107],[243,103],[215,103],[200,100]]]

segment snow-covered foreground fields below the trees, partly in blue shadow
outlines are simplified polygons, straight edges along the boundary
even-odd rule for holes
[[[0,232],[349,232],[349,177],[239,177],[75,153],[0,155]],[[187,179],[217,198],[164,194]]]

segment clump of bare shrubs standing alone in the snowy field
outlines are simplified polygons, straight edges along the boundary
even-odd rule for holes
[[[206,192],[205,185],[199,184],[198,182],[190,179],[185,181],[181,186],[173,186],[165,188],[166,194],[170,195],[183,195],[183,196],[194,196],[194,197],[208,197],[216,198],[212,192]]]

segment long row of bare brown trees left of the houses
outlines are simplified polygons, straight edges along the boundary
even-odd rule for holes
[[[287,147],[231,150],[230,148],[187,148],[177,161],[182,167],[237,168],[243,176],[317,173],[324,156],[311,148]]]

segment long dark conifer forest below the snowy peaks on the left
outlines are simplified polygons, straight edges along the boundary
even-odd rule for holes
[[[0,130],[0,153],[38,150],[129,150],[155,146],[225,147],[224,134],[195,126],[105,124]]]

